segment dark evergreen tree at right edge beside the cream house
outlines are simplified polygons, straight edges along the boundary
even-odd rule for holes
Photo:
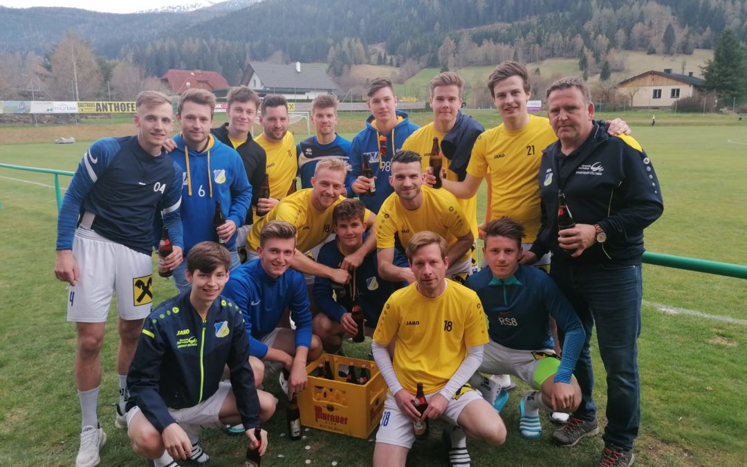
[[[732,99],[747,94],[747,53],[731,29],[725,29],[716,43],[713,60],[703,67],[706,90],[720,99]]]

